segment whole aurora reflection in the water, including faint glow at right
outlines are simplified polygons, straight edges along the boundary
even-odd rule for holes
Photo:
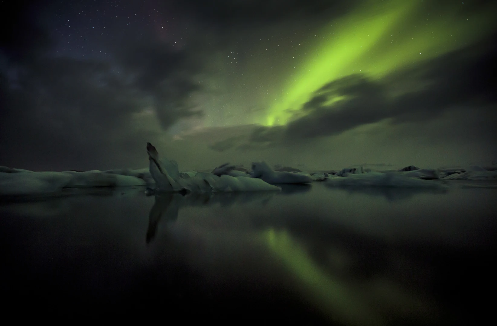
[[[398,284],[385,281],[373,282],[369,287],[353,286],[350,280],[330,274],[287,231],[269,228],[260,234],[260,239],[296,277],[304,297],[333,321],[357,326],[387,325],[392,308],[402,311],[405,314],[402,318],[410,314],[424,319],[437,318],[432,303],[422,304],[427,298],[420,300],[417,294]]]

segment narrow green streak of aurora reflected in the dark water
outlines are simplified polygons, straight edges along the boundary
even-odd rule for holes
[[[289,267],[331,319],[346,325],[383,325],[384,322],[358,294],[321,270],[286,232],[262,234],[271,251]]]

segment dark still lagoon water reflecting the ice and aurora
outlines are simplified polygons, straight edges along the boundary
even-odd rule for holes
[[[492,315],[496,189],[143,189],[2,203],[4,311],[467,325]]]

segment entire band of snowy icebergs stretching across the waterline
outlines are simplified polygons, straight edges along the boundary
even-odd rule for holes
[[[497,168],[421,169],[414,165],[400,170],[371,171],[362,166],[328,172],[275,171],[265,162],[254,162],[251,171],[229,163],[211,173],[180,172],[175,161],[159,160],[159,154],[147,145],[150,164],[143,169],[112,169],[106,171],[33,172],[0,166],[0,196],[58,196],[68,188],[115,188],[150,186],[159,192],[253,192],[280,191],[274,184],[311,184],[323,181],[327,186],[446,188],[452,180],[497,181]],[[155,185],[155,186],[154,186]],[[309,185],[310,187],[310,185]],[[495,185],[463,185],[463,187],[496,188]]]

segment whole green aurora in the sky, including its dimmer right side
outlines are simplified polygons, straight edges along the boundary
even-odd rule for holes
[[[354,73],[381,78],[477,42],[496,25],[495,3],[466,11],[464,2],[430,8],[431,2],[366,0],[330,22],[322,30],[326,37],[320,37],[323,41],[286,79],[260,123],[285,125],[314,92],[332,80]]]

